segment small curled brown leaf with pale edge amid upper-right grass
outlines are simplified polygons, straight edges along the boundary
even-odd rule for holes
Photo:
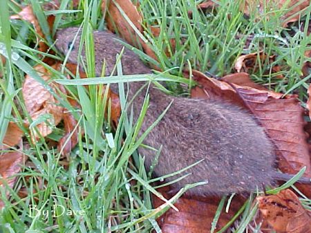
[[[258,69],[258,56],[261,62],[265,62],[268,58],[267,55],[263,52],[258,53],[249,53],[247,55],[241,55],[236,59],[236,64],[234,64],[234,68],[238,73],[245,72],[249,73],[249,70],[256,71]],[[275,61],[275,55],[271,55],[269,57],[270,64]],[[281,67],[279,65],[274,65],[272,67],[272,73],[279,73],[281,71]],[[282,79],[283,75],[276,75],[277,78]]]

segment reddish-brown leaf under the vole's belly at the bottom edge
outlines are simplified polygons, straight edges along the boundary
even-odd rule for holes
[[[158,189],[158,192],[164,195],[165,198],[169,198],[166,193],[168,187]],[[160,218],[157,219],[163,233],[198,233],[198,232],[210,232],[211,223],[214,220],[219,197],[189,197],[182,196],[178,198],[178,201],[174,203],[179,212],[174,209],[169,209]],[[220,214],[219,221],[216,225],[216,232],[227,224],[234,214],[241,208],[245,200],[240,196],[234,197],[230,205],[229,212],[223,212]],[[162,201],[156,196],[153,198],[153,206],[158,207],[162,205]]]

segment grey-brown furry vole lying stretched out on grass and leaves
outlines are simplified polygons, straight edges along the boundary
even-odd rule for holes
[[[77,33],[77,28],[66,28],[57,33],[57,48],[67,53]],[[123,46],[110,32],[94,32],[96,73],[100,75],[102,62],[106,59],[106,75],[115,66],[115,57]],[[119,39],[119,38],[117,38]],[[79,37],[70,53],[69,61],[77,63]],[[122,70],[126,75],[151,73],[131,50],[125,49],[122,55]],[[132,97],[143,85],[132,82],[129,96]],[[276,171],[272,142],[254,118],[232,104],[207,102],[182,97],[164,95],[151,85],[150,104],[141,131],[146,131],[173,100],[164,118],[149,133],[145,145],[162,152],[154,169],[156,176],[171,174],[174,171],[204,159],[195,167],[185,171],[191,175],[174,185],[176,189],[189,183],[206,181],[207,185],[195,187],[191,194],[229,194],[252,192],[262,185],[272,185]],[[140,113],[144,93],[133,102],[134,118]],[[156,152],[140,148],[149,169]],[[184,173],[185,174],[185,173]],[[167,181],[175,179],[168,178]]]

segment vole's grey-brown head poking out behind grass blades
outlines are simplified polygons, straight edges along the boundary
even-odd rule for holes
[[[79,32],[79,33],[78,33]],[[78,34],[78,35],[77,35]],[[77,35],[77,37],[76,37]],[[80,41],[81,30],[79,28],[64,28],[56,32],[56,48],[66,55],[71,48],[70,62],[77,62],[78,46]]]

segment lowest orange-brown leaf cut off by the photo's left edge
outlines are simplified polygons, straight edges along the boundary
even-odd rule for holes
[[[6,180],[8,186],[11,188],[13,187],[16,177],[12,176],[19,173],[21,170],[21,162],[23,162],[23,154],[18,151],[4,153],[0,156],[0,186],[2,186],[3,181]],[[0,210],[3,206],[3,201],[1,201],[0,197]]]

